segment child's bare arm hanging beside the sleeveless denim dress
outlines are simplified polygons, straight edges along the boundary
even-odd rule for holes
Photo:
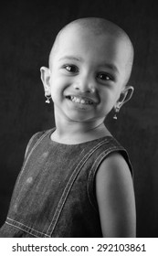
[[[103,237],[135,237],[132,176],[120,154],[113,153],[101,163],[96,176],[96,196]]]

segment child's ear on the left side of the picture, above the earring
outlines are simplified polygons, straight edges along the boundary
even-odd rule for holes
[[[46,67],[40,68],[40,78],[43,82],[45,95],[49,96],[51,94],[50,91],[50,69]]]

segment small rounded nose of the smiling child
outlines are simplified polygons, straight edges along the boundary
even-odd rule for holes
[[[93,93],[95,89],[95,80],[89,75],[82,75],[74,83],[74,89],[80,92]]]

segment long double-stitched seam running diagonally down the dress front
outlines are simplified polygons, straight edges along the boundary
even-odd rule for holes
[[[90,149],[90,152],[88,152],[86,155],[83,156],[83,158],[80,160],[79,164],[76,166],[75,170],[73,171],[73,173],[71,174],[71,176],[69,177],[68,179],[68,183],[66,185],[66,187],[64,188],[64,191],[60,197],[60,200],[58,202],[58,207],[56,209],[56,212],[53,216],[53,219],[47,229],[47,233],[50,233],[50,235],[52,234],[52,232],[54,231],[55,227],[56,227],[56,224],[58,222],[58,218],[59,218],[59,215],[60,215],[60,212],[66,202],[66,199],[68,197],[68,193],[76,179],[76,177],[78,176],[79,174],[79,171],[81,169],[81,167],[86,163],[86,161],[89,159],[90,155],[92,155],[102,144],[107,144],[109,143],[109,141],[107,141],[107,139],[104,139],[103,141],[101,141],[99,144],[96,144],[93,148]],[[54,222],[54,224],[53,224]],[[52,227],[53,225],[53,227]],[[52,227],[52,229],[51,229]],[[50,231],[51,229],[51,231]]]

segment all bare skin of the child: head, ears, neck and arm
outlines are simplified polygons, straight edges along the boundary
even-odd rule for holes
[[[121,108],[132,97],[133,88],[126,85],[132,59],[129,37],[104,19],[80,19],[59,32],[50,52],[49,69],[41,68],[45,93],[51,94],[54,102],[53,141],[79,144],[111,135],[104,119],[112,108]],[[101,163],[96,196],[103,236],[134,237],[132,176],[119,153]]]

